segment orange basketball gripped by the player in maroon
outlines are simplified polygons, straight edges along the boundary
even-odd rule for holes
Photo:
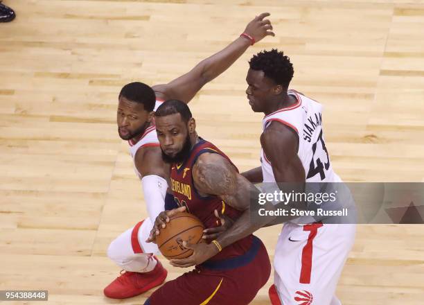
[[[184,259],[193,254],[193,250],[186,249],[183,241],[188,243],[202,242],[204,225],[194,216],[187,212],[180,212],[170,217],[169,223],[156,238],[157,246],[161,254],[167,259]]]

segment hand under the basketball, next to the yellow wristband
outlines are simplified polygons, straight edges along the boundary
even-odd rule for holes
[[[185,259],[171,259],[169,262],[174,267],[188,268],[193,265],[200,265],[219,252],[218,248],[213,243],[191,244],[183,241],[183,246],[187,249],[192,249],[193,254]]]

